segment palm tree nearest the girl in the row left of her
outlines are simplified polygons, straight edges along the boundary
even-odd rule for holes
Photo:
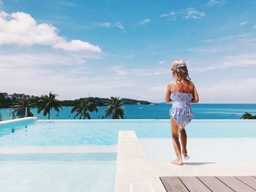
[[[112,119],[124,119],[124,109],[121,108],[123,102],[119,97],[111,96],[110,100],[107,101],[108,108],[105,110],[105,117],[111,116]]]

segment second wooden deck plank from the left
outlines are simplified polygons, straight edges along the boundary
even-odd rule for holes
[[[197,177],[179,177],[181,182],[186,185],[190,192],[208,192],[210,191]]]

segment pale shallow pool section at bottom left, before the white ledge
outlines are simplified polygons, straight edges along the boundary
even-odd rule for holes
[[[5,192],[113,192],[116,153],[1,154],[0,169]]]

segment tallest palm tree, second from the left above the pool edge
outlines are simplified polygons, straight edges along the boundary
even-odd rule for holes
[[[50,119],[50,110],[56,110],[56,112],[59,112],[59,108],[61,108],[61,102],[56,98],[56,94],[49,93],[49,95],[41,96],[41,99],[39,99],[37,103],[37,112],[41,112],[43,110],[42,115],[48,116],[48,120]]]

